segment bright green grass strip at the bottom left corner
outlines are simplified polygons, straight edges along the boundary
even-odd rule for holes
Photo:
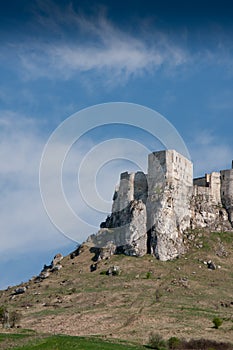
[[[0,340],[14,340],[15,342],[26,335],[2,334]],[[3,347],[3,349],[7,349]],[[110,342],[94,337],[74,337],[66,335],[55,335],[50,337],[38,336],[37,339],[30,339],[23,346],[14,346],[11,350],[142,350],[142,346],[136,346],[127,342]]]

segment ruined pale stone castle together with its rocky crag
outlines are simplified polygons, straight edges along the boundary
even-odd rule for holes
[[[166,261],[184,252],[184,233],[233,228],[232,169],[193,179],[193,164],[175,150],[153,152],[148,173],[124,172],[114,196],[112,213],[88,238],[111,253]]]

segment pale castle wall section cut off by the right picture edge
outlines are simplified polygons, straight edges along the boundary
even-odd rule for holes
[[[221,199],[227,209],[229,219],[233,225],[233,169],[222,170],[221,174]]]

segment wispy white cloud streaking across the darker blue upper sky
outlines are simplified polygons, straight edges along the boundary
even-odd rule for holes
[[[180,68],[195,72],[217,64],[232,72],[231,38],[223,28],[209,28],[202,38],[198,30],[176,33],[154,23],[134,20],[132,29],[130,23],[123,27],[110,21],[101,7],[87,15],[72,5],[39,1],[28,31],[16,35],[4,52],[12,53],[12,66],[14,62],[25,80],[77,79],[87,84],[96,77],[115,86],[160,70],[173,76]]]

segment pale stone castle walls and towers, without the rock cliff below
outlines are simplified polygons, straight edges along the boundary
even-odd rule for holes
[[[233,169],[193,179],[193,164],[180,153],[175,150],[152,152],[148,155],[148,174],[139,171],[120,175],[113,212],[124,209],[132,200],[141,199],[146,203],[148,196],[154,200],[166,186],[179,188],[179,192],[188,187],[194,196],[202,195],[216,205],[223,203],[229,207],[233,202]]]

